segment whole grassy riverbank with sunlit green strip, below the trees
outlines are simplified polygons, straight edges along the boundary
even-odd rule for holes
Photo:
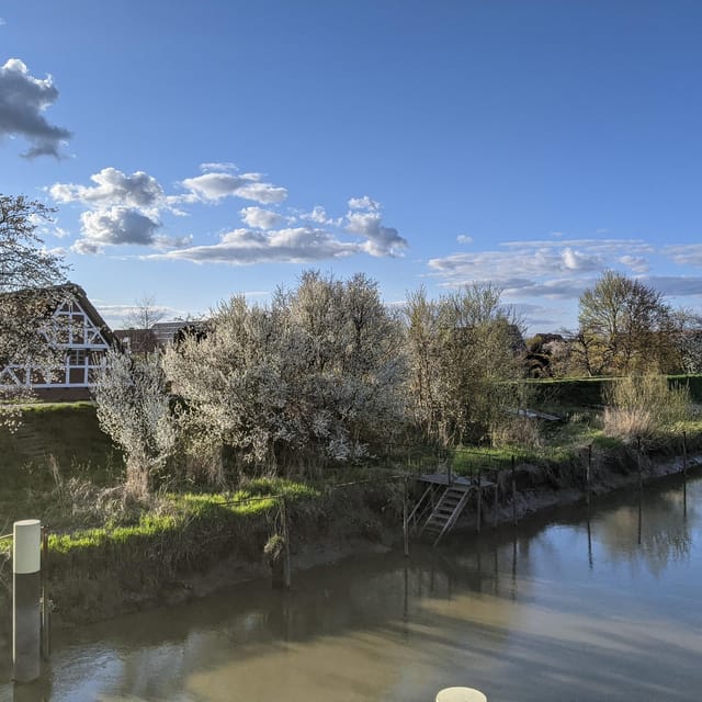
[[[649,455],[702,450],[702,424],[689,420],[647,441]],[[0,534],[16,519],[37,518],[52,530],[52,598],[70,621],[89,621],[183,593],[193,574],[242,567],[265,573],[265,546],[282,533],[284,498],[290,545],[339,544],[349,539],[382,540],[401,524],[403,483],[398,469],[455,475],[521,466],[519,487],[531,489],[539,475],[554,487],[578,486],[588,450],[603,471],[634,469],[631,445],[605,437],[598,412],[580,408],[568,420],[544,422],[537,441],[516,441],[499,450],[458,448],[437,452],[401,448],[393,461],[374,466],[325,471],[317,479],[252,479],[236,491],[170,486],[144,501],[125,499],[121,457],[98,427],[89,404],[36,406],[20,432],[0,430],[3,455]],[[541,478],[540,478],[541,479]],[[343,484],[342,487],[332,487]],[[7,598],[10,542],[0,542],[0,599]],[[261,570],[262,568],[262,570]],[[0,610],[9,608],[0,607]],[[7,622],[4,623],[7,626]],[[0,627],[2,622],[0,622]]]

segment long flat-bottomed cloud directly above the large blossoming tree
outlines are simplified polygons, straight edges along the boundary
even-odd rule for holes
[[[194,246],[151,258],[192,261],[194,263],[310,263],[359,253],[358,244],[336,239],[330,233],[313,227],[294,227],[275,231],[235,229],[210,246]]]

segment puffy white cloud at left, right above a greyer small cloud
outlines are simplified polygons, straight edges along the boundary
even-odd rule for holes
[[[56,202],[80,202],[87,206],[122,206],[155,210],[165,204],[158,181],[136,171],[126,176],[116,168],[103,168],[90,177],[94,186],[55,183],[48,190]]]

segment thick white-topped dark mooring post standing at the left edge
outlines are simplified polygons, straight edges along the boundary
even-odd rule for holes
[[[12,546],[12,679],[32,682],[41,673],[42,522],[14,522]]]

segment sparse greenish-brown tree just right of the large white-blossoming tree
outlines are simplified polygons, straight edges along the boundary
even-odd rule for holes
[[[522,375],[518,319],[492,285],[407,304],[408,403],[415,420],[445,444],[488,438],[514,406]],[[523,343],[523,342],[522,342]]]

